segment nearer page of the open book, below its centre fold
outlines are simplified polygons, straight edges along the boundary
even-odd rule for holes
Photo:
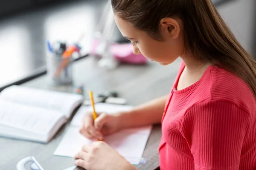
[[[56,111],[0,100],[0,125],[24,133],[48,135],[61,117]]]

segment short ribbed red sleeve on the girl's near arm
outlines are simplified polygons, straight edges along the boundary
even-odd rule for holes
[[[239,170],[250,115],[232,102],[198,103],[183,117],[181,132],[189,144],[195,170]]]

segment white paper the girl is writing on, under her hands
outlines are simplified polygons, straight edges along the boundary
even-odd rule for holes
[[[96,112],[115,113],[118,111],[127,111],[131,106],[111,105],[98,103],[95,105]],[[55,156],[74,157],[81,150],[84,144],[90,144],[92,141],[79,133],[79,125],[86,111],[92,111],[90,106],[82,106],[74,116],[71,125],[65,133],[61,143],[54,152]],[[104,136],[104,142],[113,147],[117,152],[125,157],[131,164],[139,164],[141,157],[151,133],[152,126],[124,129],[119,132]]]

